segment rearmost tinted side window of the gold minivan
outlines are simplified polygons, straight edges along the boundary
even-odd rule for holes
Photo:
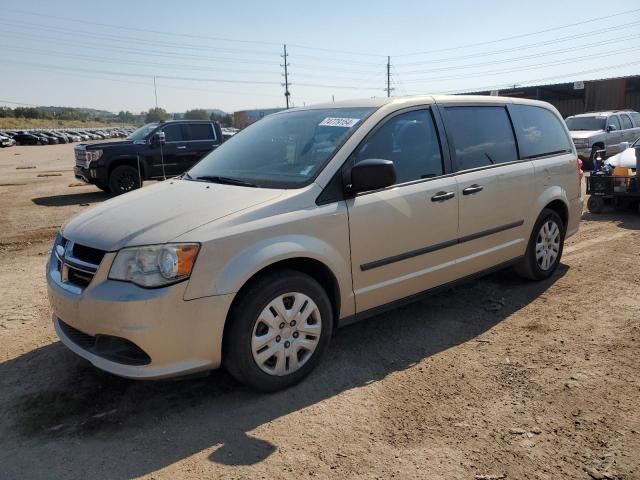
[[[571,140],[561,120],[542,107],[513,105],[520,158],[571,152]]]

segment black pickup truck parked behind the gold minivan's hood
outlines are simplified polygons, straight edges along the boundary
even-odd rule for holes
[[[149,123],[118,142],[75,147],[76,178],[114,195],[148,179],[179,175],[223,142],[217,122],[171,120]]]

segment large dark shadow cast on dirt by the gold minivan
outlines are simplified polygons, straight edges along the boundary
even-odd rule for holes
[[[95,369],[59,342],[38,348],[0,364],[0,463],[9,478],[131,478],[213,447],[212,462],[256,464],[279,446],[255,437],[257,427],[473,341],[567,270],[538,283],[498,272],[340,329],[309,378],[269,395],[222,370],[135,382]]]

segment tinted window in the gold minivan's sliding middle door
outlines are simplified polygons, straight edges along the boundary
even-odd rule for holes
[[[445,111],[458,170],[518,159],[513,129],[504,107],[448,107]]]

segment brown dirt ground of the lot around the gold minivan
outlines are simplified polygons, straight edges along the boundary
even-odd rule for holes
[[[585,213],[548,281],[500,272],[341,329],[259,395],[224,371],[120,379],[57,341],[51,242],[106,198],[72,162],[0,150],[0,478],[640,479],[638,214]]]

